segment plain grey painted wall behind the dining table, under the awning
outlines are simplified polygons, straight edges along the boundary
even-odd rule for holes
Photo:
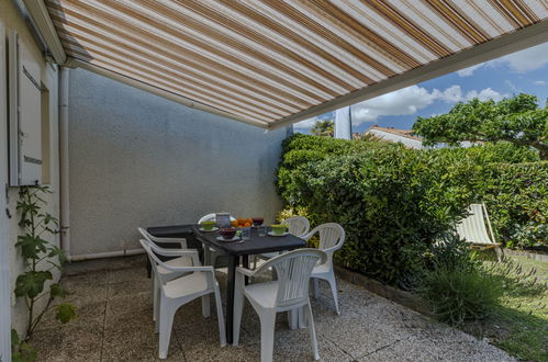
[[[194,223],[211,212],[272,222],[287,132],[71,70],[71,254],[138,248],[137,226]]]

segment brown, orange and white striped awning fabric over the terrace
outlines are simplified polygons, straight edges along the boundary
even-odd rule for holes
[[[334,109],[337,100],[367,99],[376,84],[548,18],[547,0],[45,4],[66,54],[79,64],[266,128]]]

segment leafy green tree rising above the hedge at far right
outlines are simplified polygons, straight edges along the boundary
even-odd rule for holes
[[[449,113],[428,118],[418,117],[413,132],[424,138],[425,145],[460,142],[511,142],[534,147],[540,159],[548,159],[548,102],[537,105],[538,99],[518,94],[499,103],[477,98],[460,102]]]

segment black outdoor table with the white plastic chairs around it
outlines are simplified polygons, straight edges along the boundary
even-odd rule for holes
[[[210,294],[215,295],[221,344],[237,344],[244,298],[250,302],[261,321],[261,361],[271,361],[276,314],[288,312],[291,328],[307,327],[311,333],[312,355],[320,358],[315,338],[312,309],[309,299],[309,281],[317,297],[318,279],[326,280],[332,289],[338,314],[337,287],[333,270],[333,252],[345,240],[344,229],[335,223],[323,224],[310,231],[303,216],[290,217],[271,227],[261,226],[261,218],[254,219],[244,235],[234,236],[226,228],[232,220],[228,214],[209,214],[198,224],[139,228],[141,244],[147,251],[152,268],[154,315],[159,332],[159,358],[167,358],[175,313],[182,305],[201,297],[202,314],[210,316]],[[230,215],[228,215],[230,216]],[[217,220],[219,217],[219,220]],[[214,220],[220,227],[211,227]],[[221,224],[219,224],[221,222]],[[224,224],[224,225],[223,225]],[[260,229],[259,229],[260,228]],[[223,231],[231,235],[223,237]],[[280,233],[281,230],[281,233]],[[259,233],[260,231],[260,233]],[[317,235],[317,249],[306,248],[306,240]],[[220,287],[214,265],[219,257],[227,259],[226,320],[223,317]],[[257,267],[249,269],[249,261]],[[270,273],[265,273],[270,271]],[[257,282],[258,275],[271,275],[267,282]]]

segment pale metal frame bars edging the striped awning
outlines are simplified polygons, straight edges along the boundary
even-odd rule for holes
[[[187,106],[202,110],[209,113],[217,114],[246,124],[255,125],[266,129],[277,129],[289,126],[300,121],[309,120],[320,114],[324,114],[339,108],[362,102],[412,84],[416,84],[452,71],[457,71],[473,65],[488,61],[506,54],[518,52],[527,47],[548,42],[548,20],[526,26],[524,29],[504,34],[479,45],[474,45],[459,53],[446,56],[445,58],[434,60],[421,67],[407,70],[401,75],[381,80],[369,87],[355,90],[350,93],[339,95],[327,102],[316,104],[306,110],[289,115],[287,117],[272,121],[270,123],[256,122],[233,113],[220,110],[215,106],[206,105],[168,90],[152,86],[138,79],[121,75],[116,71],[108,70],[98,65],[92,65],[82,60],[70,58],[65,53],[63,43],[51,19],[44,0],[22,0],[29,11],[36,27],[41,32],[49,53],[59,65],[69,67],[81,67],[89,71],[115,79],[125,84],[143,89],[156,95],[169,99],[171,101],[184,104]]]

